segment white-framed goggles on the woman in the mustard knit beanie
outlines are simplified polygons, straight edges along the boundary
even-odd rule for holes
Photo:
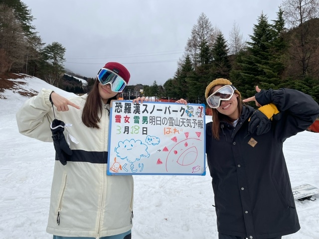
[[[210,108],[216,109],[220,107],[221,101],[229,101],[236,90],[232,85],[223,86],[207,97],[206,102]]]

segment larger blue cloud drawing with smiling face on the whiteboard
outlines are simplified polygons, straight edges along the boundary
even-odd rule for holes
[[[124,140],[119,141],[118,147],[115,148],[117,156],[121,159],[126,159],[129,163],[139,161],[142,157],[149,157],[150,154],[147,151],[148,146],[142,143],[141,140]]]

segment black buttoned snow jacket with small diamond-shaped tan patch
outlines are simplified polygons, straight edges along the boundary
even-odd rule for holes
[[[271,130],[249,134],[248,119],[254,109],[243,106],[235,128],[220,122],[219,140],[212,136],[212,122],[206,124],[206,153],[218,232],[266,239],[300,229],[283,143],[316,120],[319,106],[309,95],[291,89],[255,96],[262,105],[274,103],[281,112]]]

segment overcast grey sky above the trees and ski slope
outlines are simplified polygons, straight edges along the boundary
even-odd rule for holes
[[[282,0],[22,0],[46,44],[65,48],[65,68],[96,77],[117,61],[131,73],[129,85],[159,85],[172,78],[193,25],[203,12],[226,39],[238,24],[250,40],[263,12],[276,19]]]

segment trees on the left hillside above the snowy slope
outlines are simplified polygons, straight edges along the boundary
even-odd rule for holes
[[[61,87],[66,49],[58,42],[45,45],[33,19],[21,0],[0,0],[0,73],[24,73]]]

